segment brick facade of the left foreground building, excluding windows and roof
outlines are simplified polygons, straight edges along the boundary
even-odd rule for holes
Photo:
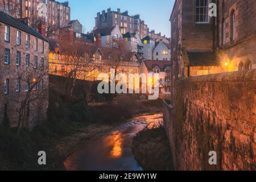
[[[18,110],[21,102],[26,97],[25,82],[28,76],[40,77],[43,79],[38,83],[36,91],[32,90],[30,96],[30,105],[28,117],[26,118],[26,127],[34,127],[47,118],[48,108],[48,42],[44,41],[44,52],[42,52],[42,40],[38,38],[38,50],[35,50],[35,37],[30,35],[30,47],[26,47],[26,32],[21,32],[21,44],[16,45],[16,31],[14,27],[10,27],[10,42],[5,42],[5,24],[0,22],[0,123],[5,121],[7,117],[11,126],[18,123]],[[4,63],[4,50],[10,49],[10,64]],[[16,65],[16,51],[20,51],[20,65]],[[26,53],[30,54],[30,67],[26,67]],[[34,68],[34,59],[38,56],[38,68]],[[44,58],[44,69],[40,68],[41,58]],[[46,73],[46,74],[44,74]],[[42,76],[41,76],[42,75]],[[20,91],[16,92],[16,82],[18,77],[20,80]],[[9,79],[9,93],[4,94],[5,79]],[[39,80],[38,80],[39,81]],[[30,80],[31,85],[31,80]],[[6,110],[6,111],[5,111]]]

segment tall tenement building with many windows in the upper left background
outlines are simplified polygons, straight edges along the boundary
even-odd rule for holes
[[[46,32],[68,26],[71,17],[69,3],[55,0],[2,0],[0,10],[15,18],[28,19],[28,25],[36,30],[42,20],[46,24]]]

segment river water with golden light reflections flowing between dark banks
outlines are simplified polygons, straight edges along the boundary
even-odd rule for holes
[[[133,138],[146,126],[162,125],[163,115],[134,117],[105,135],[86,142],[65,160],[61,169],[68,171],[143,171],[131,151]]]

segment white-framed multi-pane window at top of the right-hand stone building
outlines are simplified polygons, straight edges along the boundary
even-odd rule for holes
[[[209,23],[209,1],[196,0],[196,23]]]

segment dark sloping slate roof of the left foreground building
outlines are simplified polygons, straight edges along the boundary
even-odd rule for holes
[[[48,42],[48,40],[46,38],[44,38],[41,34],[39,34],[38,31],[34,30],[33,28],[28,26],[26,23],[23,23],[19,19],[16,19],[10,15],[7,15],[7,14],[3,13],[2,11],[0,11],[0,22],[8,24],[11,27],[17,28],[21,31],[24,31],[30,35],[34,35],[35,37]]]

